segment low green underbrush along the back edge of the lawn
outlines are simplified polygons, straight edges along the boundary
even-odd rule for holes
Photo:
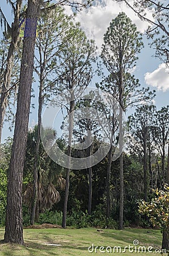
[[[57,212],[56,210],[46,210],[44,213],[40,213],[39,221],[36,222],[38,224],[54,224],[54,225],[62,225],[62,212]],[[30,214],[28,213],[28,208],[23,206],[23,225],[30,225]],[[128,227],[132,225],[132,221],[124,220],[124,227]],[[5,226],[5,214],[4,218],[1,218],[0,226]],[[67,213],[66,218],[66,226],[70,226],[72,228],[90,228],[96,227],[100,229],[118,229],[119,223],[117,220],[105,217],[105,212],[103,210],[103,205],[98,205],[94,212],[89,215],[86,212],[82,212],[82,210],[73,209],[71,212]],[[142,228],[151,228],[150,221],[147,217],[138,218],[137,226],[141,226]]]

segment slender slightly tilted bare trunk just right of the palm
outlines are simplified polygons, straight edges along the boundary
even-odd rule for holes
[[[74,94],[71,95],[71,98],[74,99]],[[74,100],[70,101],[69,109],[69,145],[67,149],[67,155],[71,157],[71,140],[73,135],[73,110],[74,110]],[[62,228],[66,228],[66,217],[67,217],[67,202],[69,197],[69,178],[70,178],[70,163],[69,158],[68,168],[66,169],[66,185],[65,185],[65,201],[64,201],[64,210],[62,218]]]

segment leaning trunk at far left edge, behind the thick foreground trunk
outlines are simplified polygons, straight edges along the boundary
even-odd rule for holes
[[[19,15],[20,15],[20,9],[22,7],[22,2],[23,2],[22,0],[18,0],[16,2],[15,18],[11,26],[12,40],[11,40],[9,51],[7,54],[6,70],[3,76],[1,102],[0,102],[0,144],[2,139],[3,120],[5,117],[5,111],[7,107],[7,98],[10,94],[11,72],[14,66],[14,54],[19,41]]]

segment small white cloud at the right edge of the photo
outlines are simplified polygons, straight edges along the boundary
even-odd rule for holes
[[[153,72],[145,74],[145,82],[147,85],[157,87],[158,90],[166,92],[169,89],[169,68],[166,64],[160,64]]]

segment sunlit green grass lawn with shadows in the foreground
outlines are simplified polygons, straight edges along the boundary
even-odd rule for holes
[[[150,256],[150,255],[161,255],[156,253],[155,249],[159,249],[162,243],[162,234],[159,230],[152,229],[129,229],[124,230],[108,230],[102,229],[103,231],[98,232],[95,228],[84,228],[84,229],[24,229],[24,246],[9,245],[0,243],[0,255],[9,256],[42,256],[42,255],[126,255],[126,256]],[[3,240],[4,229],[0,229],[0,240]],[[140,244],[130,247],[124,251],[125,246],[133,246],[133,241],[138,240]],[[94,247],[94,252],[88,251],[88,246],[104,246],[101,248],[103,252]],[[58,246],[54,246],[54,245]],[[112,253],[111,249],[112,248]],[[114,246],[121,246],[121,253],[117,253],[117,249]],[[153,247],[152,253],[146,251],[138,253],[139,246]],[[105,252],[106,249],[108,252]],[[132,252],[134,249],[134,252]],[[92,248],[90,247],[92,251]],[[136,251],[135,251],[136,250]],[[96,252],[95,252],[96,251]],[[151,249],[150,249],[151,251]],[[165,254],[167,255],[167,254]]]

